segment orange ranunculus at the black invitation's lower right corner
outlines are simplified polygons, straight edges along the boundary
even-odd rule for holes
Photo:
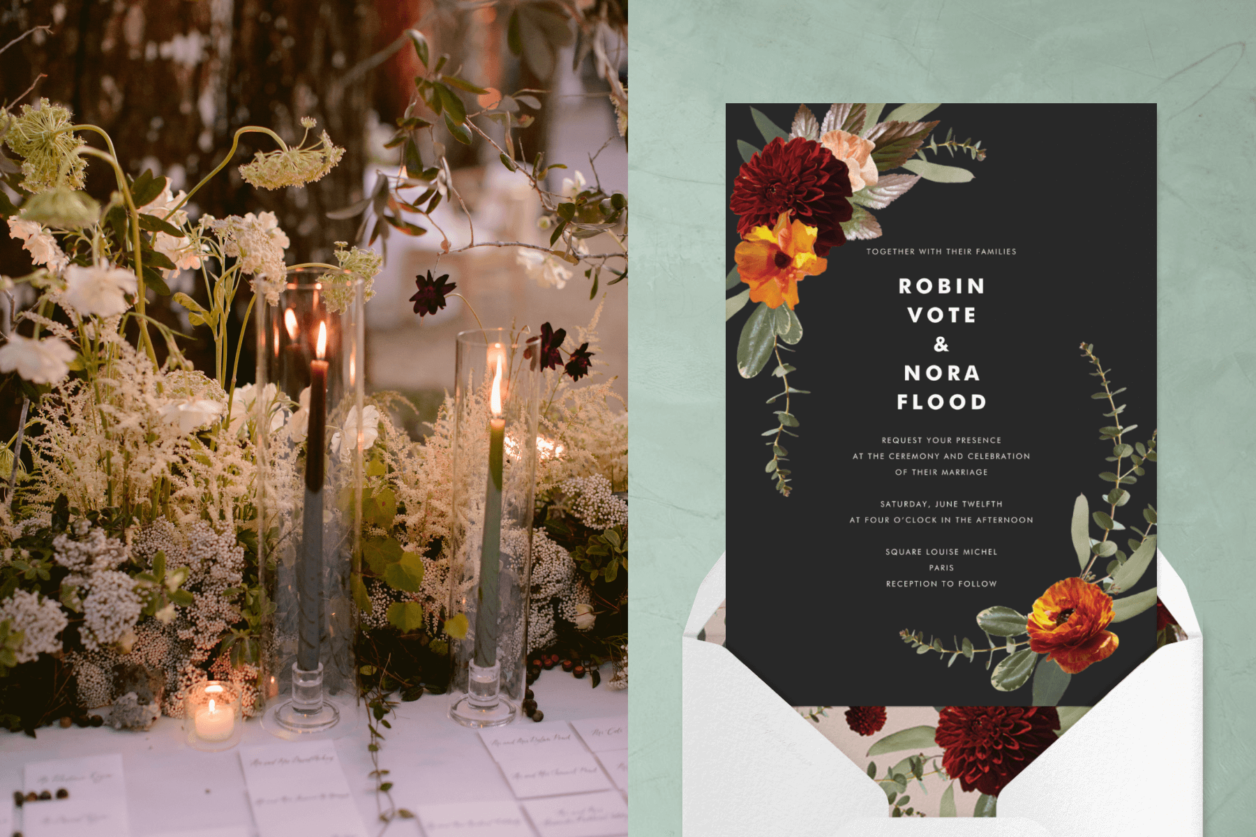
[[[1117,650],[1117,635],[1104,630],[1112,617],[1112,596],[1098,585],[1081,578],[1058,581],[1034,602],[1029,648],[1076,674]]]

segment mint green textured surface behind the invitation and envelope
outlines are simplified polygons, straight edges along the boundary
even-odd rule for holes
[[[904,99],[1159,104],[1161,547],[1207,642],[1206,831],[1252,833],[1253,10],[1251,0],[633,4],[632,834],[681,832],[681,630],[723,551],[723,103]],[[1050,171],[1025,169],[1026,200],[1076,193],[1075,213],[1059,220],[1061,247],[1103,235],[1120,148],[1090,146],[1085,124],[1040,131],[1060,154]],[[1114,316],[1103,339],[1129,328]],[[790,602],[755,605],[790,641]],[[1096,777],[1096,793],[1119,788],[1120,777]]]

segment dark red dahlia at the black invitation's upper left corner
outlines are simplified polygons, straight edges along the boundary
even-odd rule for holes
[[[850,176],[847,164],[818,142],[780,137],[742,163],[732,183],[728,208],[741,216],[737,235],[771,227],[781,212],[816,227],[815,255],[847,242],[842,222],[850,220]]]

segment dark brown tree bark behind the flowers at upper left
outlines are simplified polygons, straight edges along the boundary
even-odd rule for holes
[[[290,264],[332,261],[334,241],[353,241],[357,220],[325,213],[360,200],[365,164],[364,125],[372,74],[342,85],[342,77],[374,49],[377,15],[369,0],[9,0],[0,10],[0,45],[38,25],[0,55],[0,98],[13,102],[39,73],[48,78],[23,103],[39,97],[69,105],[79,123],[113,137],[132,176],[151,168],[191,188],[231,147],[235,131],[256,124],[285,142],[300,139],[301,117],[319,122],[337,144],[340,164],[318,183],[275,192],[245,184],[236,167],[273,141],[246,134],[227,168],[193,197],[216,217],[273,211],[288,233]],[[103,142],[84,134],[93,146]],[[89,161],[88,191],[102,201],[114,188],[100,161]],[[6,232],[6,230],[0,230]],[[0,236],[0,272],[21,275],[29,261],[20,245]],[[205,302],[203,282],[183,286]],[[237,320],[247,292],[236,300]],[[178,330],[186,326],[168,297],[149,312]],[[185,321],[186,323],[186,321]],[[200,331],[205,331],[201,329]],[[212,358],[206,334],[188,356],[198,368]],[[251,345],[246,340],[245,345]],[[247,358],[241,379],[252,378]]]

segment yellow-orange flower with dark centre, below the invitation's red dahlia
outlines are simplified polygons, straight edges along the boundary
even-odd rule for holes
[[[798,305],[798,282],[804,276],[819,276],[829,266],[815,255],[816,227],[790,221],[789,212],[776,218],[776,228],[755,227],[737,245],[734,260],[741,281],[750,285],[752,302],[767,307],[790,309]]]

